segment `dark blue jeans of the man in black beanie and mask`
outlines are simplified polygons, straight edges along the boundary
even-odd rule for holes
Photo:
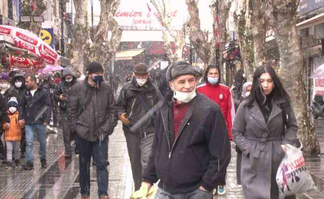
[[[90,196],[90,160],[92,150],[97,169],[98,196],[108,195],[108,170],[106,160],[108,158],[108,136],[103,141],[90,142],[77,135],[79,145],[79,164],[80,164],[80,192],[81,196]]]

